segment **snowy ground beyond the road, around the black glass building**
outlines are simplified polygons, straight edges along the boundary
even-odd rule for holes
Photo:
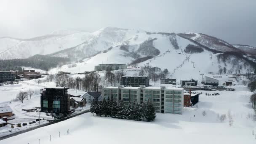
[[[31,121],[35,121],[39,118],[39,112],[26,112],[21,109],[32,109],[35,107],[40,107],[40,89],[47,87],[55,87],[56,84],[54,82],[42,82],[40,84],[37,83],[38,80],[43,81],[45,78],[40,78],[36,80],[29,81],[20,81],[19,84],[14,85],[3,85],[0,86],[0,107],[11,107],[13,110],[14,116],[11,117],[11,120],[8,120],[8,123],[14,124],[14,128],[11,128],[11,125],[7,125],[5,127],[0,128],[0,136],[8,135],[9,133],[14,133],[17,131],[22,131],[27,128],[35,127],[39,125],[39,123],[29,124]],[[32,97],[24,100],[24,103],[20,101],[13,101],[17,94],[20,91],[32,91]],[[69,89],[70,93],[78,93],[83,94],[85,92],[75,89]],[[81,112],[86,109],[89,109],[90,105],[86,105],[83,108],[75,109],[76,112]],[[14,118],[14,119],[13,119]],[[44,112],[40,112],[40,118],[45,119],[41,121],[41,124],[48,123],[46,120],[53,120],[52,116],[47,116]],[[27,123],[26,126],[17,127],[18,123]],[[11,131],[11,132],[9,132]],[[1,142],[0,142],[1,144]]]

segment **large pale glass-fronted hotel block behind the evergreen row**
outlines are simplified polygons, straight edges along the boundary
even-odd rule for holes
[[[168,87],[107,87],[104,88],[102,99],[113,96],[114,100],[125,104],[133,104],[135,101],[142,104],[143,101],[152,101],[155,112],[182,114],[184,105],[183,88]]]

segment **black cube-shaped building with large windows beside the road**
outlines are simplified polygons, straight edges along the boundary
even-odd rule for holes
[[[69,110],[68,88],[44,88],[41,95],[41,112],[64,114]]]

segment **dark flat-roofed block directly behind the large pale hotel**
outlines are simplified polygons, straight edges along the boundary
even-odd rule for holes
[[[146,76],[123,76],[121,85],[139,87],[140,85],[149,86],[149,78]]]

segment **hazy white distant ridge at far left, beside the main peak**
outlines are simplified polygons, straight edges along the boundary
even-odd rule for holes
[[[90,33],[58,31],[42,37],[0,38],[0,59],[28,58],[35,54],[50,54],[83,43]]]

